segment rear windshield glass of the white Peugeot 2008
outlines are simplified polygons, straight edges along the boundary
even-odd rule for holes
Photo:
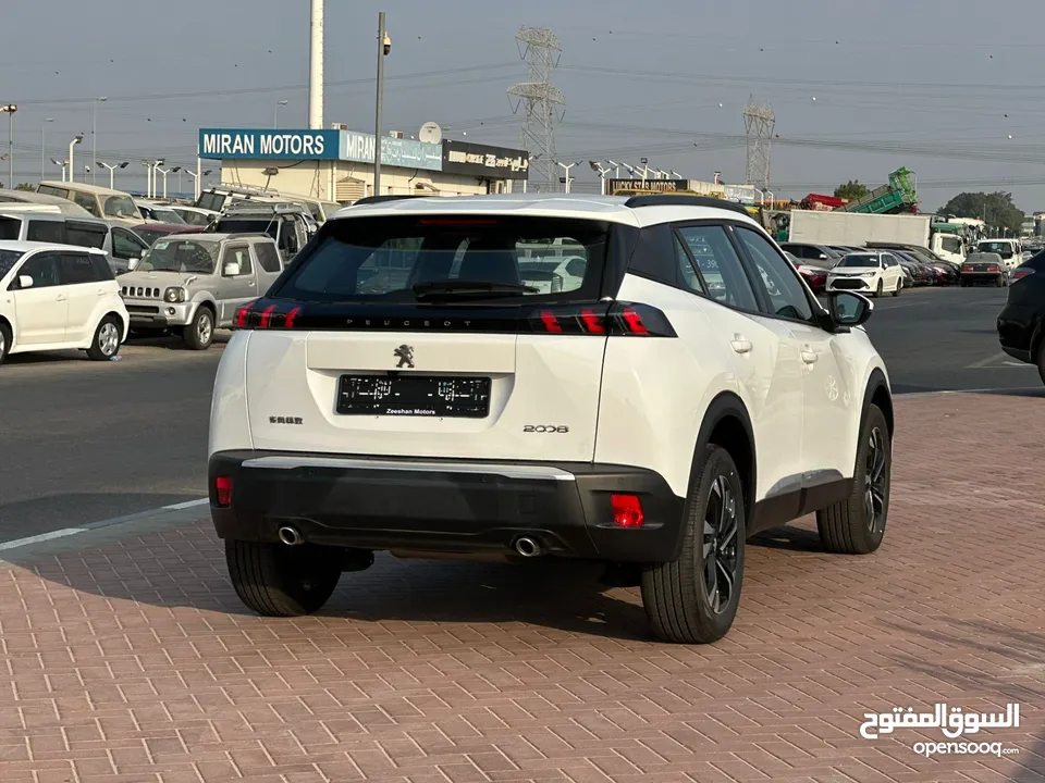
[[[595,221],[530,216],[328,221],[273,295],[302,301],[414,301],[426,286],[476,284],[507,287],[499,299],[512,287],[518,288],[515,297],[587,297],[601,283],[608,231]]]

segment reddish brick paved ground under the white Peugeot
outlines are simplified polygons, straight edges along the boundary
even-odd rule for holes
[[[749,549],[714,647],[648,641],[594,571],[401,562],[322,617],[245,613],[209,522],[0,570],[0,782],[1045,780],[1041,399],[898,402],[886,544]],[[808,524],[804,525],[808,529]],[[920,758],[865,711],[1021,705]]]

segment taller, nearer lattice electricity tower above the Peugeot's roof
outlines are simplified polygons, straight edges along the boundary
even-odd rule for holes
[[[542,27],[522,27],[515,40],[528,70],[527,82],[508,87],[508,99],[515,99],[513,113],[517,113],[520,105],[526,107],[520,146],[530,152],[534,188],[557,190],[555,123],[565,115],[566,96],[552,84],[552,74],[558,65],[562,46],[558,36]]]

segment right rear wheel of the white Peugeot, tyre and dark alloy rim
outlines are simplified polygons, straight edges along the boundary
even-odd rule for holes
[[[710,644],[729,631],[740,602],[743,582],[743,549],[747,519],[743,485],[737,465],[721,446],[709,446],[698,467],[697,483],[690,488],[683,517],[683,550],[673,562],[653,563],[642,571],[642,605],[653,634],[665,642]],[[723,490],[727,492],[723,492]],[[732,500],[730,500],[732,497]],[[717,499],[716,499],[717,498]],[[724,501],[724,502],[723,502]],[[732,512],[732,517],[730,517]],[[708,515],[717,517],[712,530]],[[723,525],[735,522],[735,533],[726,530],[725,546],[718,544]],[[706,530],[705,530],[706,529]],[[711,531],[711,533],[709,533]],[[714,536],[709,543],[705,536]],[[713,566],[714,600],[709,596],[705,545],[720,557]],[[732,570],[733,583],[723,575]],[[722,585],[720,585],[722,580]],[[729,586],[724,596],[720,587]]]

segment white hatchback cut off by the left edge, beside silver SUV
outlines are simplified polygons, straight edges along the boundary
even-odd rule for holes
[[[101,250],[0,241],[0,362],[9,353],[120,351],[130,318]]]

